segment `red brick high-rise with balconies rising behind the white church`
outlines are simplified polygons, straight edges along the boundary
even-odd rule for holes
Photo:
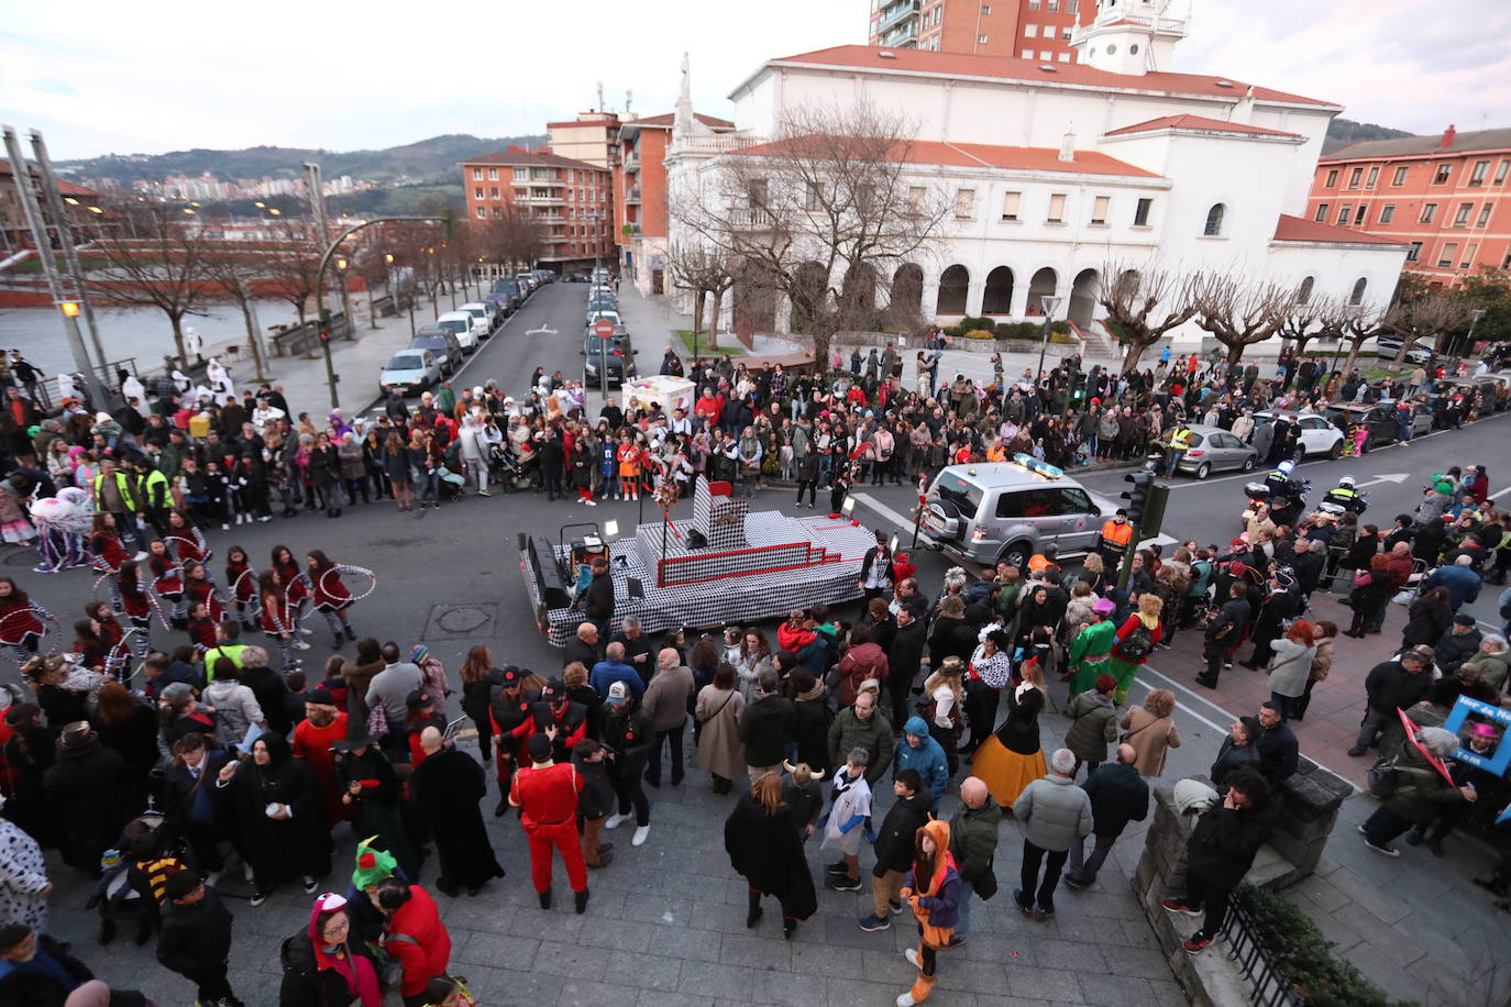
[[[1097,0],[872,0],[867,45],[1073,63],[1070,32],[1095,14]]]

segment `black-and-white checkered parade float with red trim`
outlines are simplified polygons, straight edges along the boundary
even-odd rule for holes
[[[647,633],[674,627],[719,627],[771,619],[819,602],[860,596],[860,563],[875,536],[849,518],[789,518],[777,510],[748,513],[748,501],[730,495],[728,483],[698,480],[692,518],[666,525],[642,524],[633,539],[610,545],[615,619],[636,616]],[[695,545],[694,531],[704,545]],[[567,559],[553,547],[558,562]],[[630,580],[644,596],[630,595]],[[539,604],[533,578],[526,577]],[[548,637],[564,646],[582,613],[550,608]]]

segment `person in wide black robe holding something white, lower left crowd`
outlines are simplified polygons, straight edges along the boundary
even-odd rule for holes
[[[240,848],[252,865],[252,904],[260,906],[278,885],[301,879],[308,892],[331,873],[331,830],[325,797],[314,773],[289,752],[289,743],[264,734],[252,743],[252,758],[227,762],[215,778],[215,793],[234,811]]]

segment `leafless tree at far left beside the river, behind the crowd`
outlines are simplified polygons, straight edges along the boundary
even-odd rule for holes
[[[97,242],[107,267],[88,278],[89,296],[107,308],[157,308],[174,331],[174,349],[187,367],[183,322],[207,314],[213,290],[207,258],[215,246],[198,220],[183,207],[133,202],[121,210],[130,217],[130,242]]]

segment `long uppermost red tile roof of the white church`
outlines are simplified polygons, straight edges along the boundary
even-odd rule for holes
[[[881,56],[881,53],[891,56]],[[914,74],[937,74],[941,77],[996,77],[999,80],[1038,80],[1117,91],[1163,91],[1166,94],[1231,97],[1245,94],[1250,85],[1227,77],[1203,74],[1153,72],[1135,77],[1114,74],[1082,63],[1043,63],[1037,59],[1011,59],[1008,56],[975,56],[964,53],[935,53],[919,48],[887,48],[876,45],[834,45],[811,53],[784,56],[771,63],[808,63],[820,66],[864,66],[867,69],[896,69]],[[1046,69],[1046,66],[1049,66]],[[1219,83],[1221,82],[1221,83]],[[1260,101],[1284,101],[1310,104],[1324,109],[1342,107],[1331,101],[1304,98],[1284,91],[1254,86],[1254,98]]]

